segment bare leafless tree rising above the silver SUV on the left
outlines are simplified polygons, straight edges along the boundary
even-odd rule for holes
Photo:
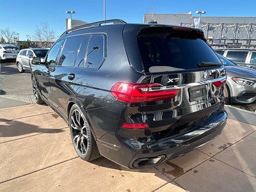
[[[33,36],[35,41],[42,42],[44,47],[51,47],[52,42],[56,40],[55,31],[49,28],[47,22],[43,22],[41,27],[36,27]]]

